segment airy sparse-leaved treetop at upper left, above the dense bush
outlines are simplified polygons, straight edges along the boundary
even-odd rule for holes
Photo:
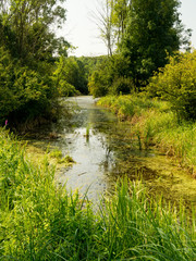
[[[65,0],[61,0],[63,3]],[[51,60],[68,46],[62,38],[57,38],[51,28],[61,26],[65,21],[65,9],[58,0],[4,0],[0,4],[1,32],[14,37],[11,54],[23,64],[34,61]],[[11,36],[8,38],[12,40]],[[8,40],[7,40],[8,44]],[[35,63],[34,63],[35,65]]]

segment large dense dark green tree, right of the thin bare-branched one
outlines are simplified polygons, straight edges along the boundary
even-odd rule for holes
[[[130,76],[137,86],[145,85],[154,71],[166,65],[168,54],[187,44],[179,5],[179,0],[132,0],[120,50],[130,59]]]

